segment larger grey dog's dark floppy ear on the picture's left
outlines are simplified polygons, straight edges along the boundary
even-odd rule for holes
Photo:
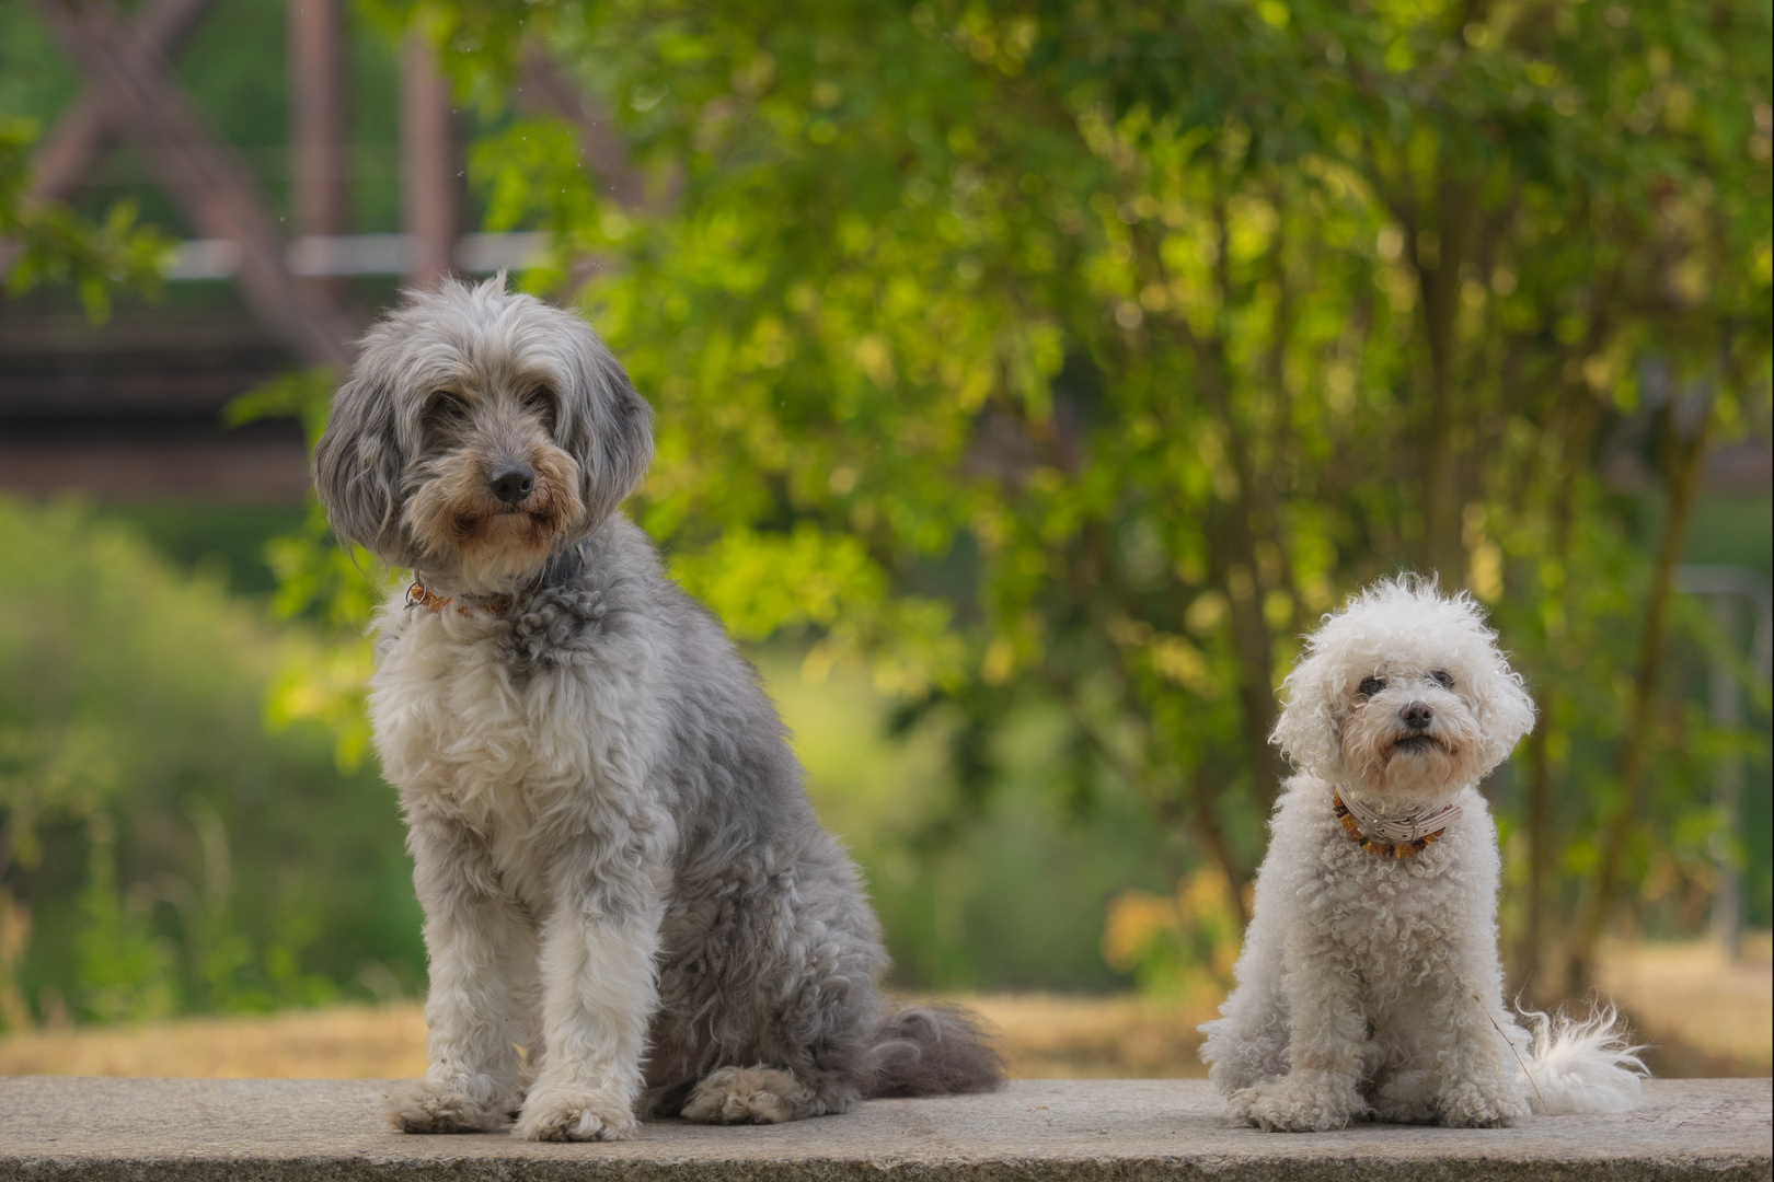
[[[399,480],[406,466],[394,424],[394,399],[373,374],[353,374],[334,393],[326,431],[314,447],[314,491],[341,542],[380,558],[399,546]]]

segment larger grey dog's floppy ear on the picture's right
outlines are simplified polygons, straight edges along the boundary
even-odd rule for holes
[[[635,393],[603,340],[591,326],[585,330],[589,340],[573,372],[578,388],[562,399],[564,443],[580,464],[585,530],[596,530],[635,491],[653,461],[653,408]]]

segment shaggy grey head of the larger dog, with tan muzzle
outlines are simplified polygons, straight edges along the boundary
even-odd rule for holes
[[[364,337],[314,450],[341,540],[486,595],[596,530],[653,457],[651,409],[585,321],[504,276],[410,292]]]

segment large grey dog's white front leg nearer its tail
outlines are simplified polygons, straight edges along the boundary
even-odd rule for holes
[[[513,1134],[616,1141],[635,1131],[656,952],[656,907],[623,920],[553,909],[541,948],[543,1069]]]

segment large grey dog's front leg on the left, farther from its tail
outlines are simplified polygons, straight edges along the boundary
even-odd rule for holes
[[[530,1040],[534,929],[467,828],[436,817],[410,826],[431,964],[429,1065],[389,1095],[389,1118],[406,1132],[484,1132],[523,1099],[516,1046]]]

